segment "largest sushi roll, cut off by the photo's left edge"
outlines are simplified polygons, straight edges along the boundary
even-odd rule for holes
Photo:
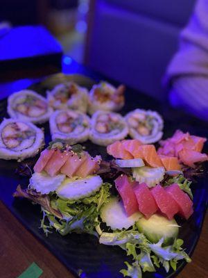
[[[18,161],[35,156],[44,146],[44,133],[35,124],[4,119],[0,124],[0,158]]]

